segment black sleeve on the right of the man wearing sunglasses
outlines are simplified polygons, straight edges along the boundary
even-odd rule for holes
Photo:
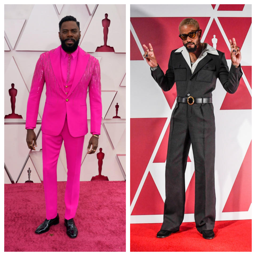
[[[235,67],[231,64],[230,71],[227,66],[227,61],[225,58],[225,54],[218,51],[221,54],[221,62],[219,66],[219,81],[221,82],[223,88],[228,93],[235,93],[238,88],[240,78],[242,77],[241,65],[239,67]]]

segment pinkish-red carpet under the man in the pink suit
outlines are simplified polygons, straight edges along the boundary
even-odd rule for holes
[[[5,251],[125,251],[125,181],[82,181],[75,224],[77,238],[64,226],[65,186],[58,182],[60,222],[43,234],[42,183],[5,184]]]

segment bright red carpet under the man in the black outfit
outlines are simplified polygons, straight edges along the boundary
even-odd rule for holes
[[[157,238],[161,223],[131,224],[130,251],[251,251],[251,219],[216,221],[215,238],[202,238],[194,222],[182,223],[180,231]]]

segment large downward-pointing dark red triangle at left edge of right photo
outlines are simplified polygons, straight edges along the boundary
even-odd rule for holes
[[[141,182],[167,118],[130,119],[130,200]]]

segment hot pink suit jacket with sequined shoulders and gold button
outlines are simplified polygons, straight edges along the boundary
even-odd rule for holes
[[[65,93],[61,77],[61,46],[42,53],[37,61],[27,102],[26,127],[36,127],[39,101],[44,83],[46,101],[42,116],[42,132],[57,136],[65,117],[69,132],[80,137],[88,132],[86,96],[89,88],[91,133],[100,134],[102,103],[99,62],[78,46],[77,65],[73,84]]]

